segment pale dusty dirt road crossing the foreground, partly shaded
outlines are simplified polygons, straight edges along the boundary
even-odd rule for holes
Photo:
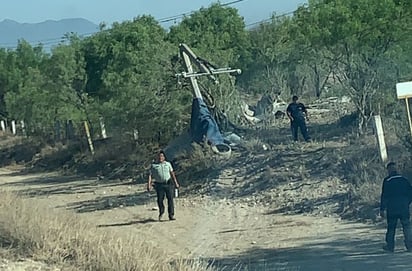
[[[404,252],[400,230],[396,252],[382,252],[383,224],[283,215],[270,206],[213,193],[193,196],[184,187],[176,199],[177,220],[159,222],[155,195],[143,183],[24,174],[18,168],[0,169],[0,189],[71,210],[92,221],[96,234],[139,235],[171,256],[201,258],[221,270],[412,270],[412,254]],[[30,270],[11,265],[0,270]]]

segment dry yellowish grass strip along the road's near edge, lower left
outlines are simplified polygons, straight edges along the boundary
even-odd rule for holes
[[[74,214],[10,192],[0,193],[0,221],[3,247],[24,257],[71,266],[64,270],[208,270],[202,262],[170,259],[138,236],[118,238]]]

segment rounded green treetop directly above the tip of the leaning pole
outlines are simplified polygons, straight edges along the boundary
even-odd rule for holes
[[[235,8],[212,4],[172,26],[169,40],[186,43],[216,65],[233,67],[248,57],[249,38],[243,18]]]

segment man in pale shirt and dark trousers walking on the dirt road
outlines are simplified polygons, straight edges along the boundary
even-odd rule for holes
[[[153,182],[154,179],[154,182]],[[162,219],[165,212],[164,198],[167,198],[167,212],[169,220],[175,220],[174,217],[174,188],[179,188],[176,175],[173,171],[172,164],[166,161],[166,156],[163,151],[158,154],[158,160],[152,164],[147,182],[147,191],[150,191],[154,186],[157,195],[157,205],[159,206],[159,221]]]

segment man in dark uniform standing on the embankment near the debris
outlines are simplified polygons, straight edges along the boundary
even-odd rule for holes
[[[298,96],[292,97],[292,103],[286,108],[286,114],[290,119],[290,127],[294,141],[298,141],[298,129],[302,133],[303,139],[306,142],[310,141],[306,120],[309,120],[308,111],[303,103],[298,103]]]

